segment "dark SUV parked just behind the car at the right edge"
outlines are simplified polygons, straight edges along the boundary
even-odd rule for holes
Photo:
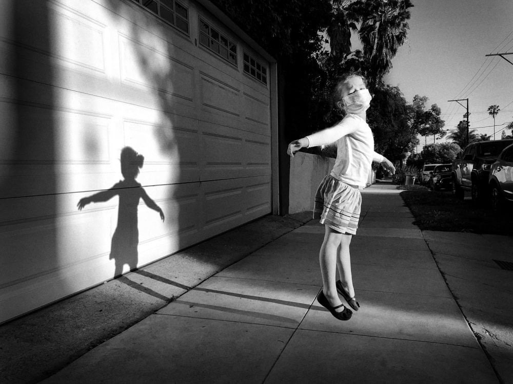
[[[470,143],[461,158],[452,162],[452,194],[463,199],[465,190],[471,191],[472,201],[480,203],[488,190],[488,175],[502,150],[513,144],[513,139]]]

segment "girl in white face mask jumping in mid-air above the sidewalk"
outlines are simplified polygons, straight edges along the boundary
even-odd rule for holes
[[[365,79],[358,74],[343,76],[333,92],[333,103],[344,109],[346,116],[338,124],[292,141],[287,154],[301,148],[337,142],[337,159],[331,173],[317,190],[313,218],[325,226],[324,241],[319,252],[323,289],[317,301],[339,320],[348,320],[352,312],[337,294],[340,293],[355,311],[360,304],[354,297],[351,276],[349,244],[356,234],[362,197],[360,189],[366,186],[372,162],[381,163],[392,173],[393,164],[374,152],[374,138],[366,122],[371,95]],[[336,281],[336,272],[340,280]]]

